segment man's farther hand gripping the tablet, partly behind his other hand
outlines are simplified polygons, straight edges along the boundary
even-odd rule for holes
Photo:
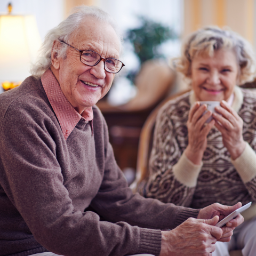
[[[197,219],[211,219],[214,216],[219,216],[220,220],[224,219],[230,213],[234,212],[236,209],[240,208],[242,203],[237,203],[233,206],[226,206],[219,203],[211,204],[207,207],[201,209],[198,213]],[[222,229],[222,236],[218,239],[221,242],[229,242],[231,236],[233,235],[233,230],[235,227],[239,226],[244,222],[244,218],[241,214],[233,220],[230,220]]]

